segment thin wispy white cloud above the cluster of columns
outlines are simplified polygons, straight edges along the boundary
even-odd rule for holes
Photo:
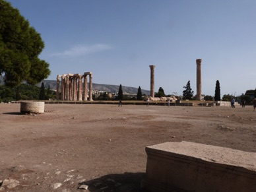
[[[80,55],[88,55],[90,53],[105,51],[108,49],[112,49],[112,47],[104,44],[96,44],[92,46],[73,46],[73,48],[69,50],[59,52],[59,53],[52,53],[51,55],[76,57]]]

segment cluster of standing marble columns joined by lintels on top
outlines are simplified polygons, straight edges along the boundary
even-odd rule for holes
[[[92,73],[86,72],[84,75],[71,74],[57,75],[57,100],[67,101],[87,101],[88,100],[88,80],[89,100],[92,101]],[[60,84],[61,82],[61,84]]]

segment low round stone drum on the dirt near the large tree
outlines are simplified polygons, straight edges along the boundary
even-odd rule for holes
[[[44,113],[44,102],[21,102],[20,113]]]

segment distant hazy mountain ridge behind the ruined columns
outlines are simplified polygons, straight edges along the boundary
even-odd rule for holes
[[[44,82],[44,87],[45,88],[48,88],[48,86],[49,86],[49,88],[56,90],[57,80],[43,80],[42,82]],[[42,82],[36,84],[36,86],[41,86]],[[126,93],[129,93],[129,94],[137,94],[138,88],[139,87],[135,88],[135,87],[131,87],[131,86],[123,86],[122,85],[123,93],[126,92]],[[92,89],[103,91],[103,92],[114,93],[114,92],[118,92],[119,85],[92,83]],[[143,90],[142,89],[141,92],[143,94],[150,95],[149,90]]]

